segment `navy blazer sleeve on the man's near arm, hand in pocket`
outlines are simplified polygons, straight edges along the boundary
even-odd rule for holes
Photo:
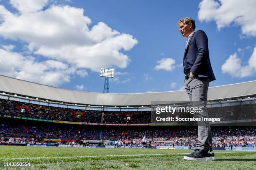
[[[190,71],[198,75],[200,67],[203,67],[202,61],[206,59],[209,51],[208,38],[205,32],[202,30],[198,30],[196,33],[197,34],[195,35],[195,42],[197,45],[198,55]]]

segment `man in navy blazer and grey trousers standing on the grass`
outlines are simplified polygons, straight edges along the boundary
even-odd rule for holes
[[[195,117],[208,117],[206,110],[207,91],[209,82],[215,80],[208,50],[208,38],[204,31],[195,32],[195,20],[182,18],[178,23],[179,32],[187,37],[183,56],[185,74],[184,86],[189,100],[202,102],[205,107],[203,112],[197,112]],[[194,106],[195,107],[195,106]],[[212,131],[209,122],[198,121],[198,143],[194,153],[184,156],[186,160],[215,160],[212,150]]]

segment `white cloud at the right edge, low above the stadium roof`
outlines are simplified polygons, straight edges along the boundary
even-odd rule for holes
[[[221,66],[223,73],[228,73],[233,77],[248,77],[256,73],[256,47],[254,47],[253,54],[249,58],[246,65],[242,65],[241,59],[237,53],[230,55],[228,60]]]

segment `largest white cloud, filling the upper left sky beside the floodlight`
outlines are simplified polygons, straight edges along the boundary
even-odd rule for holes
[[[92,21],[84,15],[82,8],[51,5],[42,10],[48,5],[47,2],[12,0],[11,4],[20,12],[18,14],[0,5],[0,35],[27,47],[23,53],[48,58],[49,61],[44,62],[48,64],[47,68],[69,67],[72,70],[69,74],[84,77],[88,74],[85,69],[100,72],[102,67],[127,67],[131,59],[123,51],[131,50],[138,43],[132,35],[113,30],[103,22],[89,29]],[[9,49],[12,50],[12,47],[9,46]],[[2,62],[4,64],[6,60]],[[56,68],[52,67],[54,64],[57,64]],[[29,80],[33,81],[32,77]],[[62,79],[56,80],[60,82],[49,84],[62,83]]]

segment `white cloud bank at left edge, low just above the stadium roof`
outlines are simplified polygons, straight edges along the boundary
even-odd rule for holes
[[[74,73],[74,68],[53,60],[37,62],[32,56],[0,49],[0,72],[22,80],[59,86],[70,81],[69,75]]]

